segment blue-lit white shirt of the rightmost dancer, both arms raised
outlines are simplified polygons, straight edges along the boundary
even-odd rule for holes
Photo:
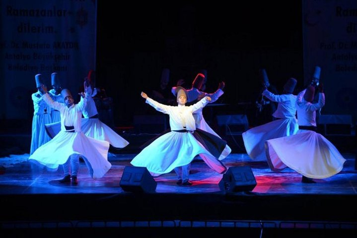
[[[299,125],[316,126],[316,111],[325,105],[325,94],[319,93],[319,101],[310,103],[304,99],[306,89],[296,98],[297,123]]]

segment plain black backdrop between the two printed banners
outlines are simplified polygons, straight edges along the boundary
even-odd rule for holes
[[[301,9],[301,1],[99,1],[97,86],[114,99],[115,123],[154,110],[140,92],[157,87],[162,68],[170,69],[171,84],[182,78],[187,85],[206,69],[208,92],[224,80],[218,102],[231,104],[233,114],[255,110],[249,103],[261,67],[279,90],[289,77],[303,85]]]

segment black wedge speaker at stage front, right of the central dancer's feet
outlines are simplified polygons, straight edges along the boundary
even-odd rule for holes
[[[230,167],[218,183],[220,190],[228,192],[252,191],[257,185],[249,166]]]

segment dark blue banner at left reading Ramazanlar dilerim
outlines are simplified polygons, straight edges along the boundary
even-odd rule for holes
[[[0,9],[1,118],[33,112],[38,73],[50,90],[57,72],[76,101],[83,78],[95,70],[96,1],[1,0]]]

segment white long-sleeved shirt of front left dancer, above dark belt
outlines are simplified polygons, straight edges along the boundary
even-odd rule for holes
[[[45,102],[55,110],[60,111],[61,114],[61,130],[66,131],[66,126],[74,126],[74,130],[81,131],[81,118],[82,110],[87,103],[88,94],[85,94],[84,98],[80,98],[78,104],[73,104],[71,107],[67,107],[64,103],[55,102],[52,100],[48,93],[45,93],[42,98]]]

